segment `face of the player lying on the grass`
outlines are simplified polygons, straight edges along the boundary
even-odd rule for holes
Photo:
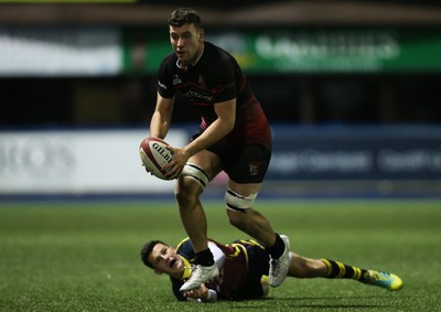
[[[158,273],[166,273],[178,279],[184,273],[184,261],[173,247],[157,244],[149,255],[149,261]]]

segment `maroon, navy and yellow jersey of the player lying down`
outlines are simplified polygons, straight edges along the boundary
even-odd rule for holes
[[[224,252],[225,259],[219,268],[219,277],[205,286],[217,292],[219,300],[244,300],[262,297],[260,279],[268,276],[269,255],[265,248],[255,240],[235,240],[223,245],[211,240]],[[178,245],[178,255],[190,263],[194,260],[194,249],[189,238]],[[189,277],[190,275],[184,275]],[[186,278],[173,279],[173,293],[178,300],[186,300],[180,292]]]

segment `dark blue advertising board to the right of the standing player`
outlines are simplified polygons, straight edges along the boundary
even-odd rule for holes
[[[268,180],[441,180],[438,126],[277,126]]]

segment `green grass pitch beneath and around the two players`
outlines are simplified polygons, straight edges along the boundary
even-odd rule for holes
[[[263,201],[291,249],[392,271],[389,292],[348,280],[289,278],[265,300],[176,302],[143,267],[143,243],[185,236],[173,202],[0,203],[0,311],[441,311],[440,201]],[[209,236],[246,237],[207,202]]]

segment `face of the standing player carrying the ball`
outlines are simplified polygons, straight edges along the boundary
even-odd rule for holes
[[[204,45],[204,31],[196,30],[194,24],[180,28],[169,26],[170,42],[179,61],[184,66],[193,65]]]

